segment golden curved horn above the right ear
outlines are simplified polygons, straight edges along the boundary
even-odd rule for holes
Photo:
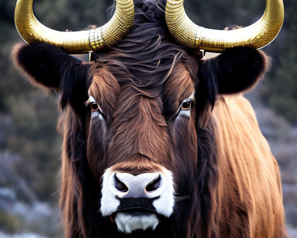
[[[194,24],[184,11],[184,0],[168,0],[168,29],[181,44],[195,50],[220,52],[236,46],[263,48],[277,37],[284,20],[282,0],[266,0],[264,15],[254,24],[231,31],[207,29]]]

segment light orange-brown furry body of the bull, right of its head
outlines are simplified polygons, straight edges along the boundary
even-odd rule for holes
[[[250,103],[242,96],[225,97],[214,107],[212,118],[219,128],[216,131],[219,183],[215,215],[219,233],[231,233],[235,237],[247,234],[282,237],[284,212],[279,210],[282,208],[279,168]],[[240,229],[243,227],[245,231]]]

